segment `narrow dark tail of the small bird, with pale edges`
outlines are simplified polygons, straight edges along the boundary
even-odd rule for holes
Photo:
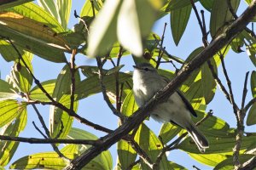
[[[195,141],[198,149],[201,152],[205,152],[207,148],[209,148],[209,143],[207,138],[200,132],[200,130],[195,127],[194,124],[190,124],[189,127],[186,128],[191,138]]]

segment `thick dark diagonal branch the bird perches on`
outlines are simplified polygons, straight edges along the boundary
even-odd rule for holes
[[[230,42],[238,33],[246,28],[247,24],[256,14],[256,0],[253,0],[251,5],[234,20],[233,23],[225,29],[222,35],[216,37],[210,44],[205,48],[201,54],[198,54],[195,59],[189,61],[188,64],[183,66],[183,69],[177,73],[177,77],[172,79],[165,88],[161,89],[160,92],[154,95],[143,107],[139,108],[131,117],[127,119],[120,127],[115,129],[113,133],[102,138],[102,145],[90,147],[81,156],[71,161],[70,165],[64,169],[81,169],[87,163],[89,163],[93,158],[102,153],[103,150],[108,150],[110,146],[115,144],[122,139],[126,134],[131,132],[131,130],[139,126],[143,120],[148,116],[148,111],[153,109],[153,107],[160,102],[169,98],[176,88],[178,88],[190,75],[192,71],[203,65],[208,59],[211,59],[214,54],[216,54],[225,44]]]

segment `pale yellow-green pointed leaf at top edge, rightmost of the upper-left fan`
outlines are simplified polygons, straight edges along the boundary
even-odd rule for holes
[[[67,29],[72,6],[72,0],[56,0],[58,14],[60,14],[61,26]]]

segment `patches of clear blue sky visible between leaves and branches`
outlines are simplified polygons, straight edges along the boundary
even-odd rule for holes
[[[73,1],[73,10],[76,9],[77,11],[80,11],[82,8],[81,1]],[[241,2],[242,8],[244,9],[245,3]],[[200,5],[197,5],[199,9],[201,9]],[[69,28],[71,28],[74,24],[78,22],[77,19],[73,16],[73,10],[72,15],[70,19]],[[241,10],[239,11],[239,14],[241,14]],[[167,15],[161,20],[158,20],[153,28],[153,31],[157,33],[158,35],[161,35],[164,23],[166,22],[168,25],[166,27],[166,39],[164,42],[164,46],[166,46],[166,50],[173,55],[176,55],[178,57],[181,57],[183,59],[186,59],[189,54],[195,49],[202,45],[201,42],[201,31],[198,26],[197,20],[195,20],[195,14],[194,11],[192,11],[191,19],[189,20],[188,27],[183,35],[183,38],[181,42],[179,43],[178,47],[175,46],[174,42],[172,41],[172,34],[170,29],[170,20],[169,16]],[[207,26],[209,22],[209,14],[206,12],[206,21]],[[70,55],[67,54],[67,58],[69,58]],[[86,57],[82,55],[78,55],[76,58],[78,65],[96,65],[95,60],[93,59],[86,59]],[[255,70],[255,67],[253,66],[250,59],[247,57],[247,54],[241,53],[241,54],[235,54],[231,52],[226,56],[225,58],[226,67],[228,70],[228,73],[230,75],[230,80],[232,82],[232,88],[234,91],[235,99],[238,105],[241,105],[241,94],[242,94],[242,88],[243,88],[243,82],[245,73],[247,71],[253,71]],[[125,67],[121,71],[132,71],[131,65],[133,65],[131,56],[126,56],[121,60],[121,64],[125,65]],[[0,57],[0,71],[1,71],[1,78],[5,79],[6,75],[9,74],[9,71],[11,69],[11,66],[13,63],[7,63],[3,60],[3,58]],[[59,72],[61,71],[61,68],[64,66],[64,64],[55,64],[50,63],[49,61],[46,61],[44,59],[38,58],[35,56],[32,60],[32,65],[34,69],[35,76],[40,80],[40,82],[44,82],[48,79],[56,78]],[[171,64],[166,64],[165,67],[171,68],[173,70],[173,67]],[[219,77],[226,84],[222,70],[218,69]],[[247,87],[250,89],[250,87]],[[247,99],[251,99],[252,94],[247,94]],[[41,114],[44,116],[44,121],[49,121],[49,106],[39,106],[39,111],[41,111]],[[230,103],[225,99],[224,94],[222,94],[219,89],[216,92],[215,98],[212,100],[211,104],[208,105],[207,111],[212,109],[214,112],[214,116],[219,116],[220,118],[224,119],[224,121],[228,122],[230,124],[230,127],[236,127],[236,120],[235,116],[233,114],[232,106]],[[86,119],[90,120],[91,122],[96,122],[98,124],[101,124],[103,126],[106,126],[108,128],[114,129],[117,127],[117,118],[116,116],[113,116],[112,112],[108,109],[108,106],[104,103],[104,100],[102,98],[102,94],[96,94],[93,96],[90,96],[87,99],[84,99],[79,102],[79,114],[80,116],[84,116]],[[36,122],[38,127],[40,127],[40,123],[38,122],[38,117],[36,116],[35,112],[32,110],[31,107],[29,107],[28,110],[28,121],[25,131],[20,133],[20,136],[22,137],[33,137],[33,138],[42,138],[42,136],[38,133],[38,131],[32,126],[32,121]],[[146,124],[148,127],[150,127],[152,130],[154,130],[155,133],[158,133],[160,130],[161,124],[159,122],[154,122],[152,119],[150,121],[147,121]],[[101,137],[105,133],[98,132],[96,130],[93,130],[90,127],[85,127],[84,125],[79,124],[79,122],[74,121],[74,127],[82,128],[86,131],[89,131],[91,133],[96,134],[98,137]],[[255,131],[255,125],[252,127],[246,127],[246,131]],[[32,153],[38,153],[42,151],[51,151],[52,148],[49,144],[20,144],[18,150],[15,153],[15,156],[12,159],[12,162],[19,159],[21,156],[26,156]],[[113,145],[110,148],[110,151],[113,156],[113,165],[116,161],[116,145]],[[192,169],[192,166],[195,165],[196,167],[200,167],[201,169],[212,169],[212,167],[205,167],[201,165],[201,163],[198,163],[191,159],[186,153],[180,150],[174,150],[170,155],[168,156],[169,160],[175,161],[184,167],[187,167],[189,169]],[[185,160],[185,161],[184,161]]]

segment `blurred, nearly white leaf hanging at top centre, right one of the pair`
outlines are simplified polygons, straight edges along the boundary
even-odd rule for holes
[[[143,55],[143,39],[148,37],[161,1],[123,1],[118,21],[117,35],[122,46],[136,56]]]

